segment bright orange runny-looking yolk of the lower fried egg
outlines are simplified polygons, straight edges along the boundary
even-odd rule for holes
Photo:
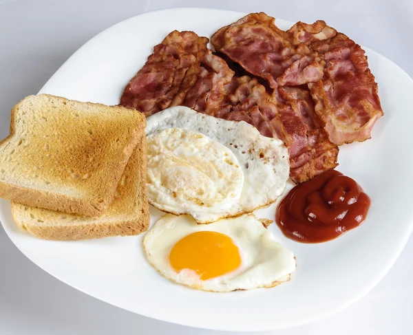
[[[169,254],[169,262],[177,272],[190,269],[206,280],[235,270],[241,257],[231,237],[202,231],[178,241]]]

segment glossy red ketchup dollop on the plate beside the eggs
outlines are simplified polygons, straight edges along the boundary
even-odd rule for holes
[[[359,226],[370,198],[350,177],[330,170],[293,188],[277,208],[275,221],[286,237],[319,243]]]

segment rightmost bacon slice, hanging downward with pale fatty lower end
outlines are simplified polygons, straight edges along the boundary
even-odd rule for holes
[[[330,141],[340,145],[367,140],[383,110],[364,50],[341,33],[311,48],[326,63],[323,78],[308,87]]]

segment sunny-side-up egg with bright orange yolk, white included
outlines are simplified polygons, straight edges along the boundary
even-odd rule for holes
[[[143,248],[160,274],[206,291],[270,288],[295,270],[293,252],[254,215],[199,225],[189,215],[167,214],[145,235]]]

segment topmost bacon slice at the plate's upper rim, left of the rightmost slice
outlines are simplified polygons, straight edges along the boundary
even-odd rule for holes
[[[294,34],[279,30],[274,21],[264,13],[248,14],[215,32],[211,43],[274,89],[320,80],[323,67],[315,55]]]

